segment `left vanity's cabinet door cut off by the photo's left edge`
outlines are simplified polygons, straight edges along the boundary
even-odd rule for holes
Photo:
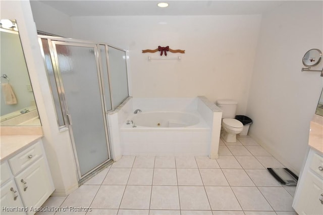
[[[21,201],[21,196],[18,192],[15,182],[12,180],[1,187],[1,210],[0,214],[26,214],[24,205]],[[15,211],[10,211],[16,209]]]

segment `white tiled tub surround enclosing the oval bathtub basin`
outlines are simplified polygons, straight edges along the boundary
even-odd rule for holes
[[[127,125],[134,110],[194,114],[199,123],[187,127],[154,128]],[[138,115],[141,113],[138,113]],[[112,150],[121,155],[207,155],[218,158],[222,111],[204,96],[196,98],[130,98],[109,115]],[[135,122],[134,122],[135,123]],[[113,126],[114,125],[114,126]],[[116,128],[119,128],[116,131]]]

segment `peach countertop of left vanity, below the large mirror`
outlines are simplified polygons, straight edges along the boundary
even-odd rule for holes
[[[29,145],[33,144],[41,137],[42,135],[1,135],[1,161],[8,158],[17,151],[27,148]]]

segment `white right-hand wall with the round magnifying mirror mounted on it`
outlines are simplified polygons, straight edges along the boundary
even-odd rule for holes
[[[322,11],[321,1],[293,1],[263,15],[249,92],[250,135],[296,173],[323,85],[318,72],[301,72],[304,53],[323,49]]]

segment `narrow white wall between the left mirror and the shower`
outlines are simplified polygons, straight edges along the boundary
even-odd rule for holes
[[[55,185],[55,195],[77,189],[78,179],[68,132],[57,126],[54,104],[41,57],[29,1],[1,1],[1,19],[16,19],[30,81],[42,124],[45,152]]]

